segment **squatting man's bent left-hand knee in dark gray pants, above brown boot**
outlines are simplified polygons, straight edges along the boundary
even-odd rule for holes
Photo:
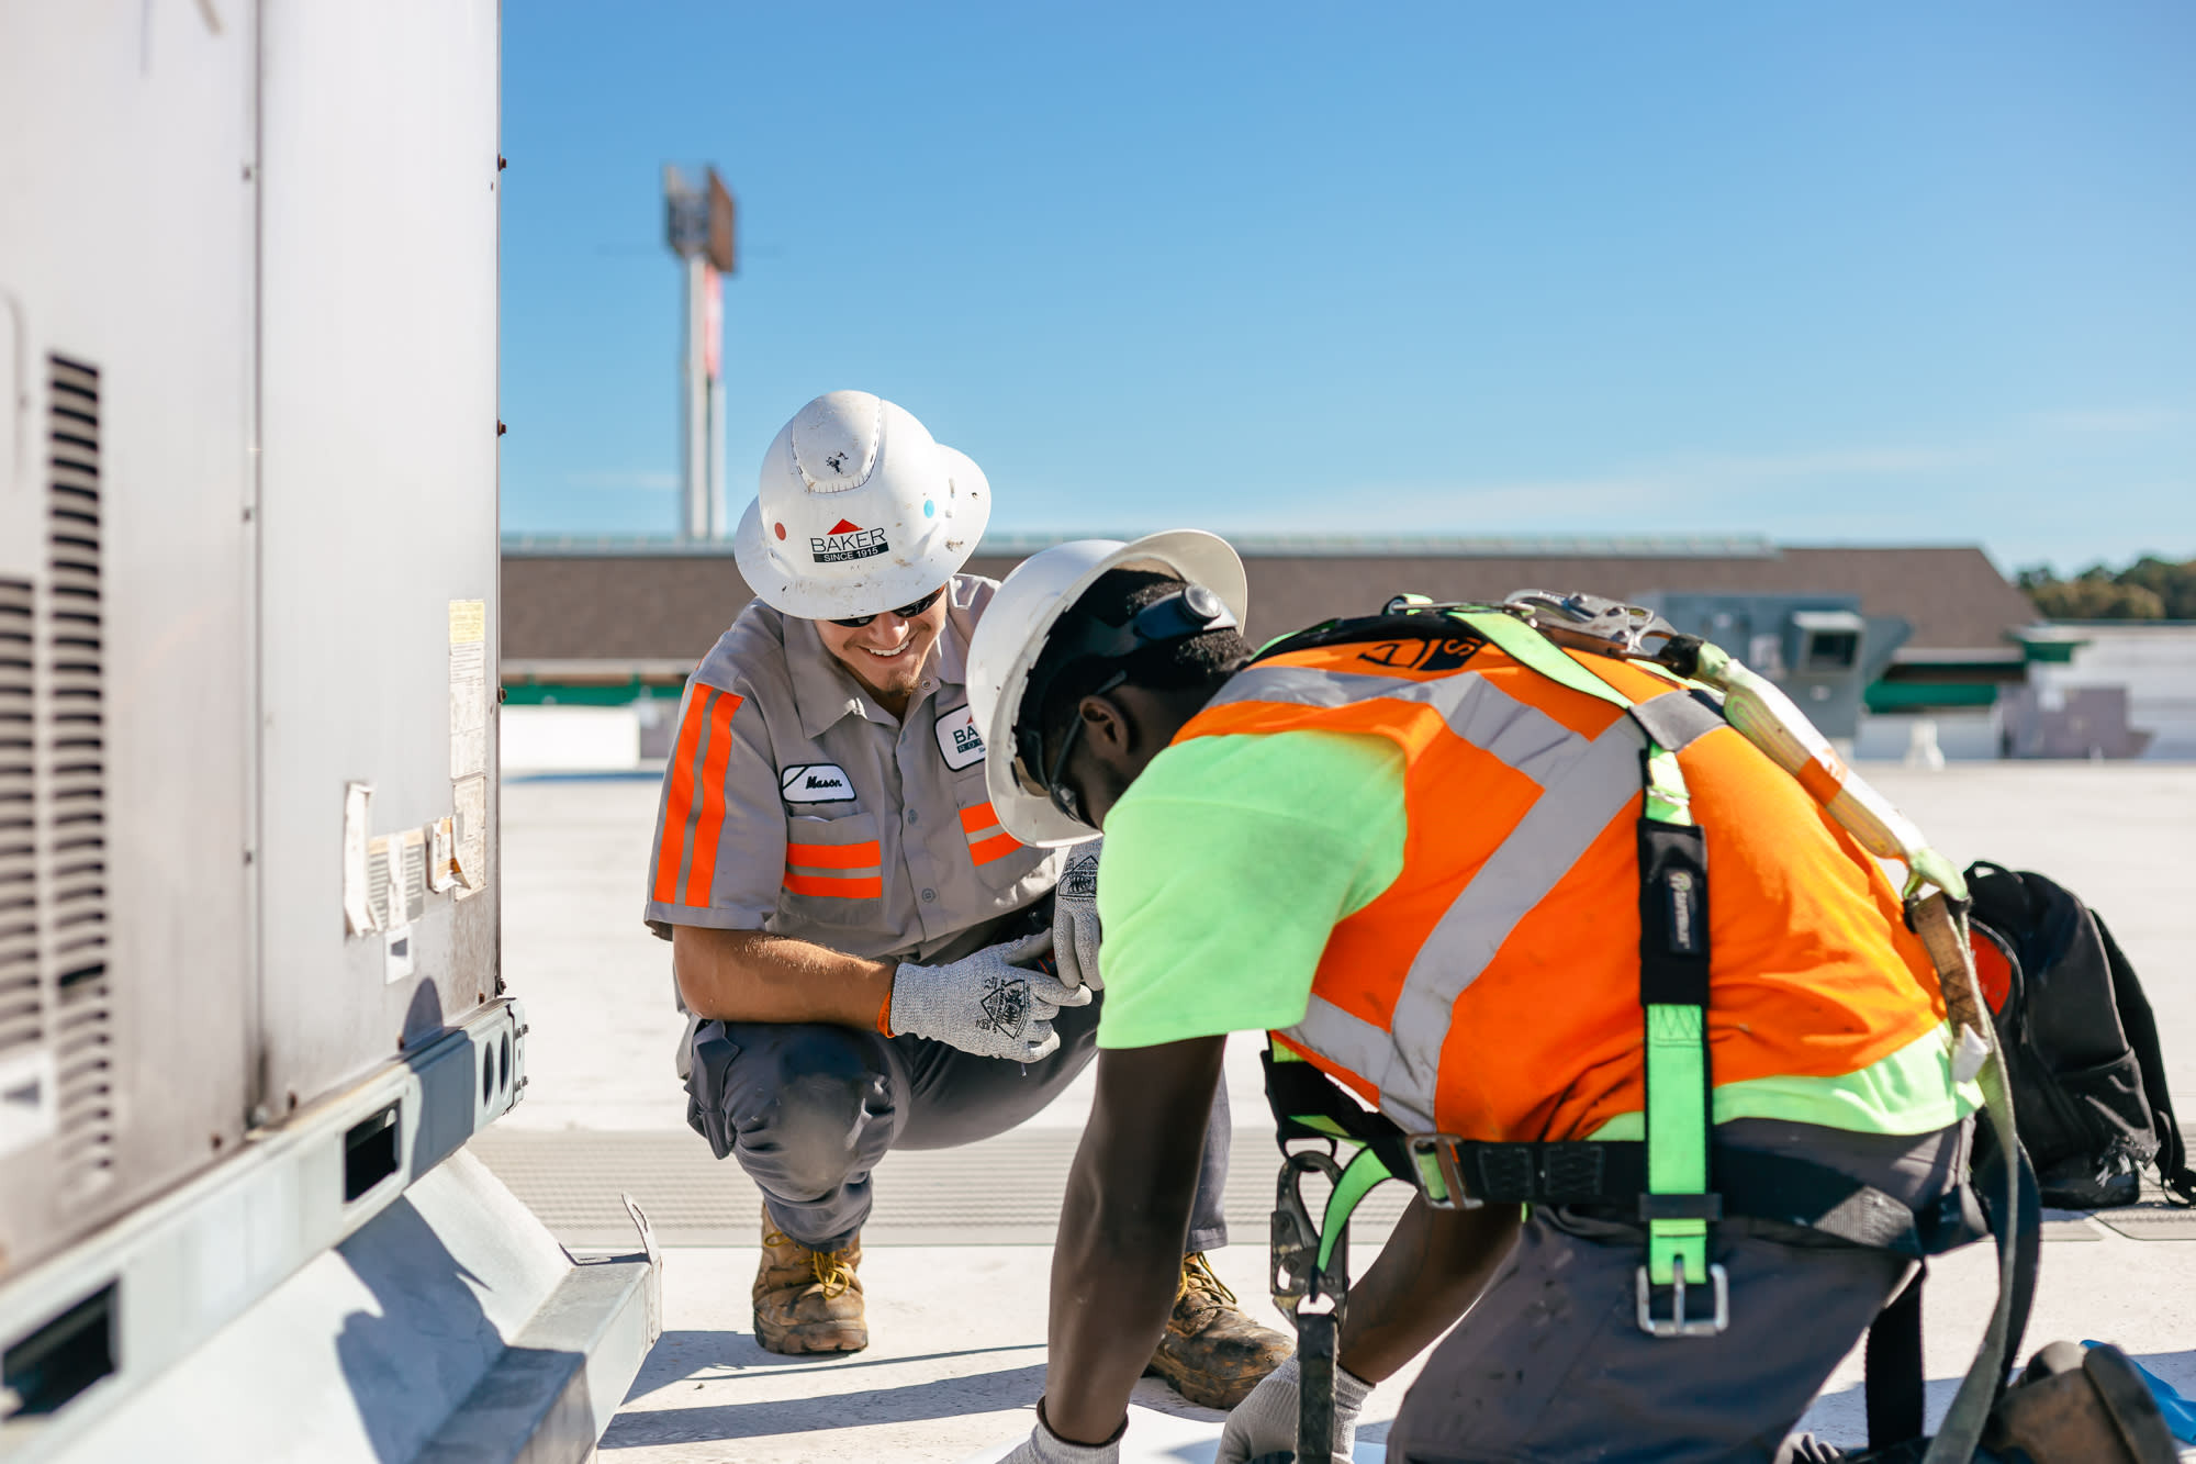
[[[881,1038],[826,1024],[703,1024],[687,1121],[777,1196],[819,1196],[889,1147],[892,1071]]]

